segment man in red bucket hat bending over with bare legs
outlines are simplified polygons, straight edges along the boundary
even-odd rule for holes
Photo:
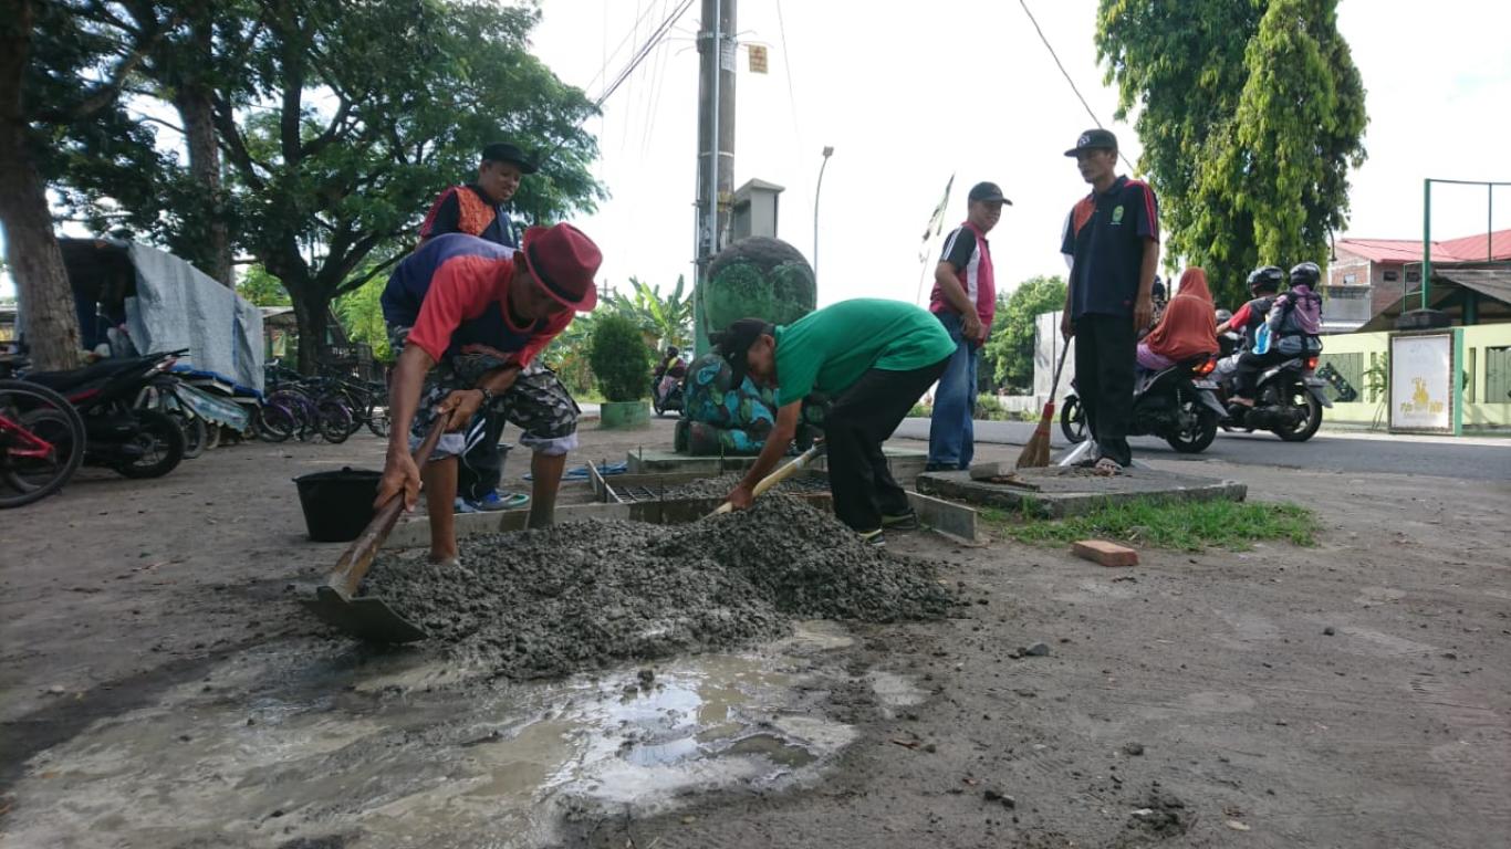
[[[459,432],[484,406],[518,424],[530,459],[530,527],[552,523],[567,452],[577,447],[577,403],[535,355],[576,313],[598,301],[603,255],[570,224],[532,227],[520,249],[449,233],[428,240],[388,276],[384,320],[399,363],[388,387],[388,458],[378,502],[403,492],[406,509],[425,480],[431,559],[456,562],[452,506]],[[431,462],[409,458],[437,415],[447,417]]]

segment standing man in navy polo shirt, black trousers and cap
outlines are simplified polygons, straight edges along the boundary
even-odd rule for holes
[[[1061,252],[1070,286],[1059,329],[1076,338],[1076,391],[1098,455],[1091,462],[1098,474],[1117,474],[1133,462],[1133,363],[1154,310],[1159,204],[1148,184],[1118,175],[1112,133],[1086,130],[1065,156],[1074,157],[1091,193],[1065,219]]]

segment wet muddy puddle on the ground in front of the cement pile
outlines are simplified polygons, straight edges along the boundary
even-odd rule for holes
[[[248,653],[39,754],[0,846],[548,846],[565,823],[817,781],[843,625],[759,653],[553,683],[388,657]],[[888,704],[922,698],[872,675]]]

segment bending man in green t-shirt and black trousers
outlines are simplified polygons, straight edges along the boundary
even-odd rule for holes
[[[881,443],[944,373],[955,343],[938,319],[901,301],[861,298],[816,310],[775,326],[740,319],[713,335],[734,370],[775,387],[777,424],[756,465],[728,500],[748,508],[752,489],[787,452],[798,431],[802,399],[823,393],[830,491],[834,514],[864,539],[882,544],[882,527],[916,527],[908,497],[891,479]]]

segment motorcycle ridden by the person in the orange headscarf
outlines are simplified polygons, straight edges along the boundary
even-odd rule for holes
[[[1210,379],[1215,367],[1216,360],[1203,358],[1141,373],[1133,385],[1129,437],[1159,437],[1182,453],[1206,450],[1218,434],[1218,420],[1227,415]],[[1065,396],[1059,429],[1070,443],[1086,440],[1086,411],[1074,393]]]

